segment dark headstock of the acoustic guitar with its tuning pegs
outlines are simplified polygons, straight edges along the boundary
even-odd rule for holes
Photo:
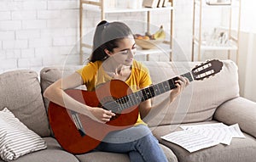
[[[196,65],[195,68],[191,70],[194,80],[203,80],[212,75],[217,74],[222,70],[223,62],[218,59],[208,60],[206,63]]]

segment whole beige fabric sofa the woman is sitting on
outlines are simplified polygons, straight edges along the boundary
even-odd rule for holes
[[[223,60],[223,63],[224,66],[218,74],[203,81],[191,82],[168,108],[160,111],[153,120],[148,121],[147,124],[154,136],[159,139],[160,147],[163,148],[168,161],[255,161],[256,103],[240,97],[236,64],[231,60]],[[152,81],[159,83],[176,75],[186,73],[200,63],[145,61],[143,64],[148,66]],[[0,161],[129,161],[127,154],[106,153],[94,150],[85,154],[70,154],[62,149],[55,139],[54,133],[50,129],[47,115],[49,101],[42,94],[45,88],[49,87],[54,81],[73,73],[74,70],[81,67],[79,65],[44,67],[39,74],[34,70],[11,70],[0,75],[1,113],[3,113],[3,110],[9,109],[15,118],[19,119],[20,123],[26,126],[26,129],[38,135],[37,139],[41,140],[40,142],[43,141],[43,146],[45,146],[38,149],[30,149],[24,154],[13,153],[11,154],[13,159],[3,158]],[[152,103],[157,105],[163,98],[166,98],[166,93],[155,97]],[[177,144],[167,142],[161,138],[168,133],[181,131],[180,126],[207,123],[224,123],[228,126],[237,123],[245,138],[233,138],[230,145],[218,144],[193,153],[189,153]],[[2,127],[0,126],[0,130]],[[13,128],[16,130],[16,126],[13,126]],[[0,132],[0,154],[1,157],[4,157],[8,148],[3,148],[4,146],[1,141],[3,140],[1,140]]]

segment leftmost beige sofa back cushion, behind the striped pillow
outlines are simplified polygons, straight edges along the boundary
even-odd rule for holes
[[[5,107],[39,136],[49,136],[49,122],[35,71],[14,70],[0,75],[0,110]]]

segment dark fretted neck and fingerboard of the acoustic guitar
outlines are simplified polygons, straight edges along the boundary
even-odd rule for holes
[[[188,78],[189,81],[194,81],[194,78],[191,72],[188,72],[181,76]],[[104,107],[107,109],[112,109],[113,112],[119,112],[119,111],[122,111],[123,109],[131,108],[132,106],[135,106],[150,98],[154,98],[164,92],[171,91],[176,87],[175,81],[177,80],[178,80],[178,77],[174,77],[167,81],[162,81],[158,84],[152,85],[150,87],[146,87],[138,92],[133,92],[123,98],[119,98],[111,103],[108,103],[107,105],[104,105]]]

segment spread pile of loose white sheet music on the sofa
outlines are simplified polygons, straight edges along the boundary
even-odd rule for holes
[[[245,137],[238,124],[226,126],[223,123],[216,123],[181,127],[183,131],[172,132],[162,139],[176,143],[190,153],[218,143],[230,145],[233,137]]]

